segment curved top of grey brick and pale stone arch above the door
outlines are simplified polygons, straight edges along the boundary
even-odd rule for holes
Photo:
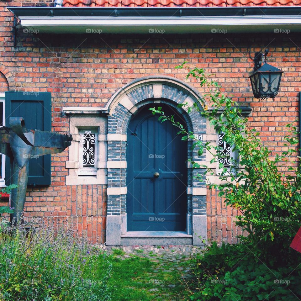
[[[129,119],[138,108],[148,103],[160,102],[175,108],[184,116],[189,130],[196,132],[195,121],[199,114],[187,114],[187,108],[177,108],[177,105],[186,102],[192,105],[198,103],[199,98],[196,89],[174,77],[153,76],[134,80],[119,89],[106,106],[109,113],[108,133],[126,134]]]

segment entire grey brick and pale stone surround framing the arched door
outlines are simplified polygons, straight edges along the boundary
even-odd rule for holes
[[[196,135],[206,134],[206,119],[198,112],[187,112],[187,108],[177,108],[178,104],[188,103],[190,106],[197,103],[200,95],[198,91],[189,87],[174,77],[143,77],[134,80],[119,89],[109,100],[106,110],[108,112],[108,207],[107,207],[107,235],[108,245],[120,245],[125,243],[121,238],[126,235],[126,144],[127,127],[131,117],[138,109],[146,104],[153,103],[154,106],[166,103],[177,110],[184,117],[188,130]],[[189,141],[191,145],[193,141]],[[188,149],[190,149],[188,145]],[[193,154],[189,154],[193,157]],[[204,156],[205,159],[205,156]],[[187,164],[187,235],[193,239],[193,244],[198,245],[200,241],[193,232],[193,214],[206,215],[206,188],[199,183],[193,184],[193,170]],[[189,176],[190,175],[190,176]],[[204,238],[207,235],[207,223],[203,231]],[[138,242],[138,240],[137,240]],[[131,241],[131,243],[133,243]],[[135,243],[134,243],[135,244]]]

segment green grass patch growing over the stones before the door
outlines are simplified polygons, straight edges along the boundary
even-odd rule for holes
[[[152,256],[153,255],[153,256]],[[112,273],[110,286],[113,300],[188,300],[188,291],[182,275],[190,260],[184,261],[150,253],[150,257],[127,255],[115,249],[111,257]],[[187,281],[188,278],[185,278]],[[189,278],[190,279],[190,278]]]

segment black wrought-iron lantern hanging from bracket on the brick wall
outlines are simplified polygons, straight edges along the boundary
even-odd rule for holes
[[[278,94],[281,76],[284,71],[267,63],[268,52],[267,49],[264,53],[256,52],[253,59],[255,63],[254,73],[249,78],[255,98],[275,98]],[[263,59],[263,57],[265,58]]]

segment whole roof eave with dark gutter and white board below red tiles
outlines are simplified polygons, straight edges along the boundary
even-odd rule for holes
[[[223,34],[301,31],[301,7],[296,6],[8,9],[20,19],[22,26],[40,33]]]

